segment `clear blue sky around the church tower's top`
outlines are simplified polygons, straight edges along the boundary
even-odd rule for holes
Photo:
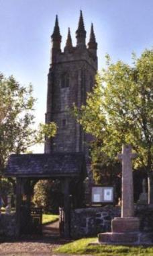
[[[50,35],[58,14],[62,49],[70,27],[75,45],[79,11],[83,10],[87,42],[91,22],[98,42],[99,70],[105,54],[131,63],[153,43],[153,0],[0,0],[0,71],[21,84],[32,83],[36,120],[44,121]]]

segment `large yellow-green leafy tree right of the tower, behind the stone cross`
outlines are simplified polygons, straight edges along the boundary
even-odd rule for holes
[[[132,144],[138,153],[135,168],[152,174],[153,124],[153,50],[140,58],[133,55],[132,66],[117,61],[97,75],[93,92],[86,106],[74,107],[77,121],[95,140],[92,143],[93,162],[114,163],[122,143]]]

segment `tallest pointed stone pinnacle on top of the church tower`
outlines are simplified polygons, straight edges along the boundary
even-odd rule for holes
[[[85,25],[83,22],[82,11],[81,11],[80,18],[79,18],[79,26],[76,31],[76,38],[77,38],[77,46],[85,45],[86,31],[85,31]]]

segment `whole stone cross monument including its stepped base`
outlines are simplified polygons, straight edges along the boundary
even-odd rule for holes
[[[121,218],[114,218],[111,222],[110,233],[98,235],[99,243],[133,244],[139,240],[140,221],[134,217],[134,186],[132,176],[132,147],[125,145],[118,158],[122,162],[121,179]]]

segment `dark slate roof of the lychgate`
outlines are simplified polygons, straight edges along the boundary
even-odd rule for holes
[[[12,154],[5,169],[7,177],[87,176],[82,153]]]

